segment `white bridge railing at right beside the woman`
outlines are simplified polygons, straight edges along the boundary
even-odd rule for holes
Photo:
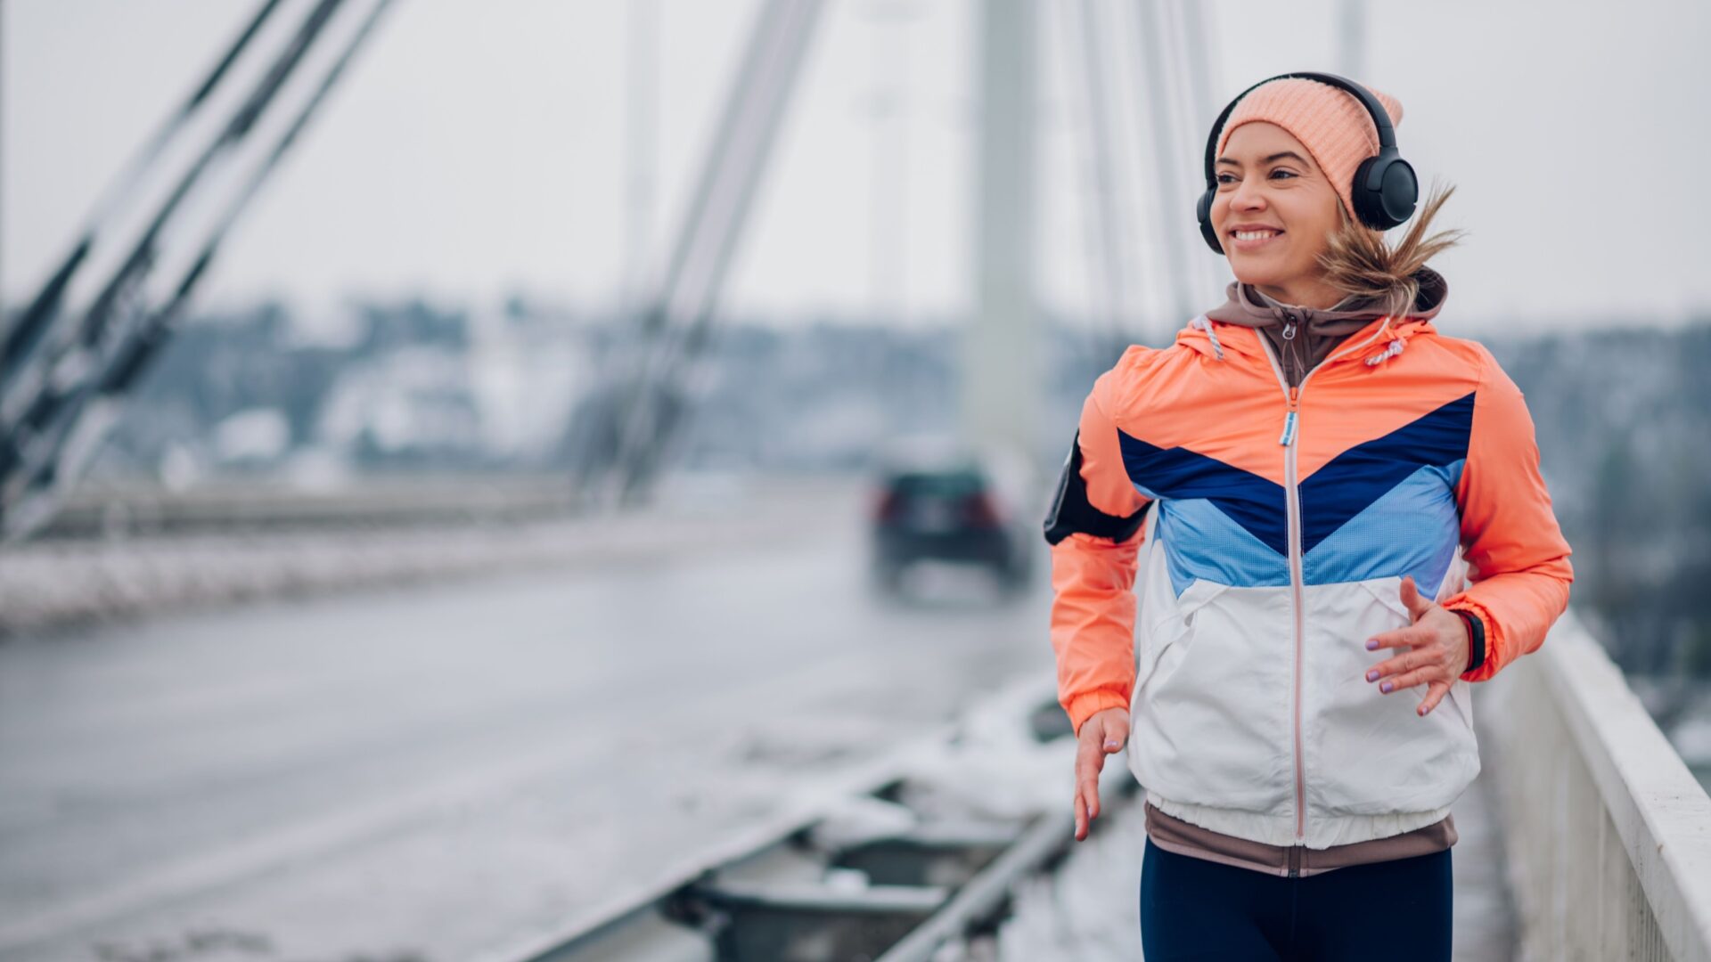
[[[1477,721],[1521,957],[1711,962],[1711,798],[1572,609]]]

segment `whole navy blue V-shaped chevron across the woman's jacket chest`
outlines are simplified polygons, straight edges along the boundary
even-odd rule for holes
[[[1466,457],[1473,394],[1458,397],[1331,459],[1300,483],[1302,553],[1422,466],[1449,467]],[[1288,555],[1283,486],[1252,471],[1184,448],[1162,448],[1117,431],[1129,481],[1153,498],[1205,498],[1278,555]]]

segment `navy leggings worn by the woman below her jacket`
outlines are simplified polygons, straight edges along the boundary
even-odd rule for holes
[[[1448,962],[1449,849],[1287,878],[1146,840],[1141,948],[1189,959]]]

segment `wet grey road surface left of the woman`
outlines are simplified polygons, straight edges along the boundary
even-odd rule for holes
[[[1051,673],[1042,585],[883,603],[828,514],[0,642],[0,959],[467,959]]]

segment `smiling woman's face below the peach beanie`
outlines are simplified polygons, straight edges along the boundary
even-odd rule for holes
[[[1287,303],[1335,300],[1316,281],[1317,258],[1341,226],[1341,199],[1307,147],[1256,120],[1230,134],[1213,171],[1211,223],[1235,277]]]

